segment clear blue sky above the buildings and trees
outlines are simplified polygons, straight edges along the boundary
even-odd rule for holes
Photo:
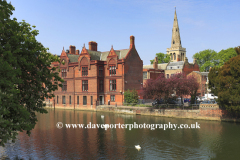
[[[8,0],[8,2],[10,2]],[[239,0],[11,0],[13,17],[39,30],[37,40],[60,55],[62,48],[81,50],[89,41],[99,51],[127,49],[129,37],[150,64],[171,46],[174,7],[182,46],[192,56],[205,49],[219,52],[240,45]]]

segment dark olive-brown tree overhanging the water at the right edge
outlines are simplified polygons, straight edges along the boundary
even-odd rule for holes
[[[235,48],[237,56],[231,58],[220,68],[209,73],[209,87],[218,95],[220,106],[228,111],[240,114],[240,47]]]

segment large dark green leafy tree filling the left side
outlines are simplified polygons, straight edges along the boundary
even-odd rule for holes
[[[34,128],[36,112],[47,113],[45,98],[52,98],[59,81],[51,63],[57,56],[36,40],[38,31],[25,21],[10,19],[14,7],[0,0],[0,145],[16,139],[17,132]],[[60,61],[59,61],[60,62]]]

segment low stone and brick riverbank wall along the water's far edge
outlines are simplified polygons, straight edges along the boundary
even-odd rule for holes
[[[52,108],[52,107],[46,107]],[[70,109],[67,107],[55,109]],[[145,116],[161,116],[171,118],[201,119],[225,122],[240,122],[240,119],[231,118],[226,110],[220,109],[217,104],[202,104],[199,109],[153,109],[152,107],[133,107],[101,105],[96,108],[75,108],[75,110],[94,112],[113,112],[118,114],[132,114]]]

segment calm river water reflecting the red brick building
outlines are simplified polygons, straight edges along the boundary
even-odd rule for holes
[[[239,159],[240,124],[48,109],[37,114],[30,137],[20,132],[16,143],[0,148],[14,159]],[[104,117],[102,117],[103,115]],[[63,128],[57,128],[62,122]],[[196,124],[200,128],[66,128],[66,124]],[[140,126],[141,126],[140,125]],[[59,124],[58,126],[62,126]],[[139,127],[140,127],[139,126]],[[147,127],[148,125],[146,125]],[[160,125],[159,125],[160,126]],[[149,126],[148,126],[149,127]],[[137,150],[135,145],[140,145]]]

